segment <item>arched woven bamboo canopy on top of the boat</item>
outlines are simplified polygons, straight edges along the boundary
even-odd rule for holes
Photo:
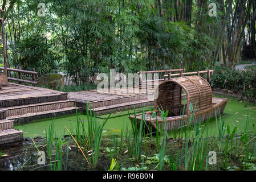
[[[162,82],[156,89],[155,109],[169,110],[169,116],[189,114],[190,102],[197,111],[212,106],[212,88],[200,76],[173,78]]]

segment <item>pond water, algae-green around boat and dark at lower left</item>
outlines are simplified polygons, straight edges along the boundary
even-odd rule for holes
[[[214,96],[214,97],[224,97],[224,96]],[[237,98],[226,97],[229,99],[227,106],[225,108],[224,114],[222,114],[222,119],[225,121],[225,126],[229,123],[231,129],[235,126],[238,127],[239,131],[243,132],[245,128],[247,114],[250,115],[249,122],[249,132],[255,131],[256,125],[256,106],[250,102],[238,101]],[[145,110],[149,110],[151,107],[146,107]],[[141,109],[137,109],[141,111]],[[130,111],[132,112],[132,111]],[[104,134],[109,134],[111,131],[113,133],[119,132],[121,129],[131,129],[131,123],[128,119],[128,112],[117,112],[111,115],[108,122],[104,127]],[[104,118],[107,118],[108,115],[100,115],[97,119],[99,122],[103,122]],[[48,126],[50,126],[53,119],[47,119],[44,121],[37,121],[34,123],[29,123],[26,125],[17,125],[15,129],[23,130],[23,137],[36,137],[35,142],[36,146],[39,147],[39,150],[46,151],[45,139],[39,137],[45,137],[45,131]],[[76,127],[76,115],[63,116],[63,118],[56,118],[55,121],[55,132],[57,137],[60,135],[68,135],[65,130],[65,126],[70,130],[75,130]],[[79,120],[84,121],[85,127],[87,127],[87,116],[79,115]],[[216,132],[216,121],[211,119],[209,123],[209,135],[213,135]],[[110,131],[110,132],[109,132]],[[193,132],[191,130],[191,132]],[[172,133],[169,133],[169,137],[172,137]],[[107,141],[107,138],[105,139]],[[75,148],[73,143],[72,148],[70,148],[70,154],[68,155],[68,162],[66,163],[65,170],[87,170],[88,165],[86,160]],[[71,147],[70,146],[70,147]],[[0,159],[0,171],[2,170],[50,170],[50,163],[47,163],[46,166],[38,166],[38,151],[36,150],[32,139],[26,138],[22,142],[12,143],[10,146],[2,148],[2,158]],[[109,156],[101,155],[100,156],[100,165],[99,170],[105,170],[106,166],[109,166]],[[128,165],[128,164],[127,164]]]

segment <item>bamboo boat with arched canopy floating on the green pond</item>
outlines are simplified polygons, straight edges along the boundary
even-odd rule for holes
[[[157,123],[164,126],[159,109],[168,115],[165,118],[167,130],[178,129],[186,126],[189,119],[193,122],[189,125],[204,122],[208,118],[214,118],[223,113],[227,98],[212,97],[212,88],[208,81],[200,76],[177,77],[172,80],[162,82],[154,93],[155,110],[143,114],[129,116],[129,119],[136,119],[137,123],[143,121],[147,126],[152,126],[157,130]],[[152,117],[152,114],[154,117]]]

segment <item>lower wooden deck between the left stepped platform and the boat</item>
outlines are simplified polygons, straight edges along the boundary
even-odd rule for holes
[[[138,93],[128,91],[113,91],[100,93],[97,90],[88,90],[81,92],[68,93],[68,100],[76,101],[78,107],[82,107],[85,111],[87,104],[90,103],[92,111],[95,114],[108,114],[111,111],[122,111],[144,106],[153,105],[153,90],[149,89],[147,92],[138,90]]]

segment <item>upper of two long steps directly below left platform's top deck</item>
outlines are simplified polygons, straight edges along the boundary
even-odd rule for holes
[[[75,107],[74,101],[55,101],[44,102],[40,104],[30,104],[23,106],[14,106],[3,108],[5,110],[6,118],[14,117],[15,115],[25,115],[29,113],[38,113],[56,109],[64,109],[67,107]]]

